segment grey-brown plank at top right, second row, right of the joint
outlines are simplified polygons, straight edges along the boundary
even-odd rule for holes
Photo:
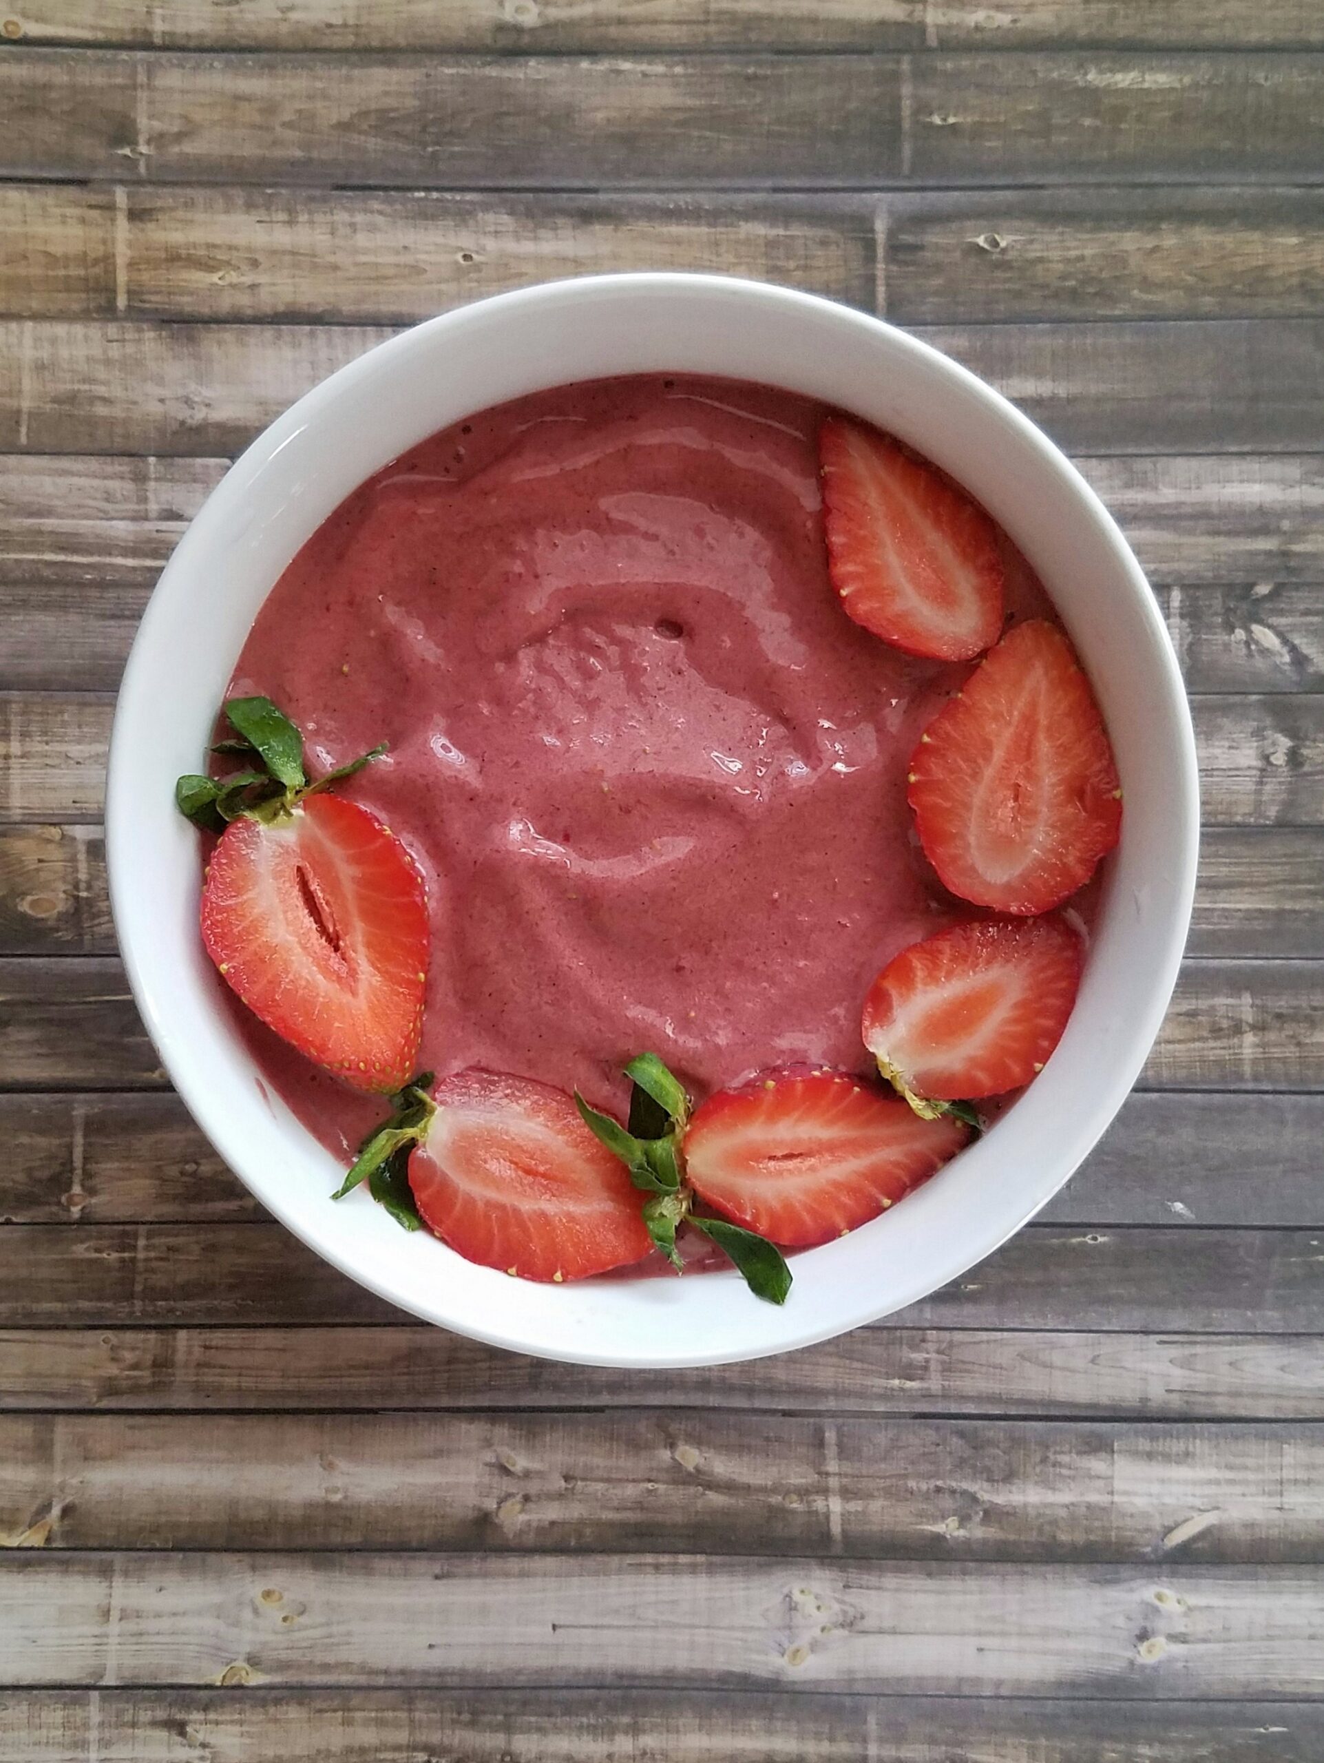
[[[1317,183],[1320,78],[1313,55],[919,55],[904,171],[924,183]]]

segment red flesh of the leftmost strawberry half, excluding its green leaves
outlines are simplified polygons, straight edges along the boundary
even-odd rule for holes
[[[287,818],[231,822],[203,887],[203,941],[268,1028],[360,1090],[418,1061],[423,878],[365,807],[310,795]]]

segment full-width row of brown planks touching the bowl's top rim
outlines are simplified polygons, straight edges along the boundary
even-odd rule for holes
[[[903,324],[1315,317],[1319,190],[508,196],[12,183],[0,316],[404,323],[522,282],[712,270]],[[874,236],[885,238],[874,263]]]

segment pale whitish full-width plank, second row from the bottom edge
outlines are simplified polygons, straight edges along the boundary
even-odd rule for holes
[[[1315,1567],[9,1550],[0,1581],[14,1685],[1313,1698],[1324,1640]]]

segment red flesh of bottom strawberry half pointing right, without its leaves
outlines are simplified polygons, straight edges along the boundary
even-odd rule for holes
[[[920,1120],[855,1077],[767,1077],[719,1090],[686,1132],[695,1192],[786,1248],[876,1218],[961,1149],[957,1120]]]

